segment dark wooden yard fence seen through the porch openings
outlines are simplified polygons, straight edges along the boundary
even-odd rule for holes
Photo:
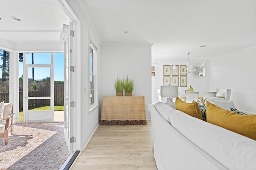
[[[40,88],[35,91],[28,92],[29,97],[39,97],[39,96],[50,96],[50,86],[46,86]],[[0,100],[9,102],[9,92],[0,92]],[[23,92],[19,94],[19,105],[20,111],[23,109]],[[62,106],[64,105],[64,83],[56,83],[54,84],[54,106]],[[42,106],[50,106],[50,99],[30,99],[28,100],[28,109],[42,107]]]

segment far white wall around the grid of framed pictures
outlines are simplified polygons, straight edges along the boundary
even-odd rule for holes
[[[191,64],[190,71],[192,71],[193,64],[202,64],[203,62],[206,63],[205,74],[206,76],[193,76],[193,73],[189,73],[187,75],[188,80],[188,87],[191,85],[194,88],[194,92],[199,92],[199,96],[203,96],[203,92],[209,91],[209,61],[207,59],[196,59],[196,60],[189,60]],[[157,64],[157,76],[152,76],[152,104],[156,104],[158,102],[156,89],[159,89],[160,86],[163,86],[164,82],[164,75],[163,75],[163,67],[164,65],[186,65],[187,60],[152,60],[152,64]],[[171,73],[172,75],[172,73]],[[170,76],[172,78],[172,76]],[[179,87],[179,95],[185,95],[184,90],[188,90],[188,87]]]

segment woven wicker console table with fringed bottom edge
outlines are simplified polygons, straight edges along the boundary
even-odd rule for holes
[[[104,96],[100,125],[147,125],[144,96]]]

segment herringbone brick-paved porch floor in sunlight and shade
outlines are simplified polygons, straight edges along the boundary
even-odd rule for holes
[[[64,123],[17,123],[0,139],[0,170],[59,170],[70,155]]]

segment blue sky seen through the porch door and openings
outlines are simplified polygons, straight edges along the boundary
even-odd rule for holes
[[[28,53],[27,64],[32,64],[32,54]],[[34,64],[51,64],[51,53],[34,53]],[[23,63],[19,63],[19,77],[23,74]],[[50,77],[50,68],[34,68],[34,79]],[[28,78],[32,78],[32,68],[28,68]],[[54,53],[54,81],[64,81],[64,53]]]

